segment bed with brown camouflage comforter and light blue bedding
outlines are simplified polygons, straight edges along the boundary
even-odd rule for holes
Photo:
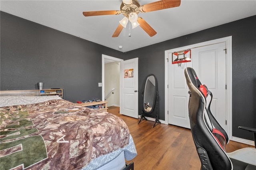
[[[58,96],[2,96],[1,92],[1,170],[121,170],[127,168],[125,159],[137,155],[126,123],[111,113]]]

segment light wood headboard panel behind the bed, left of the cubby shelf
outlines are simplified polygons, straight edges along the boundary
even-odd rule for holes
[[[3,90],[0,96],[39,96],[40,90]]]

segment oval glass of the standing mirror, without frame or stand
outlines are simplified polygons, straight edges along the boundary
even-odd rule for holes
[[[149,75],[144,89],[144,110],[150,112],[154,107],[154,102],[156,99],[156,79],[154,75]]]

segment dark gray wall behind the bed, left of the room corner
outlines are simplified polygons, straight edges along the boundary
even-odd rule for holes
[[[63,88],[72,102],[102,98],[102,54],[124,53],[1,11],[1,90]]]

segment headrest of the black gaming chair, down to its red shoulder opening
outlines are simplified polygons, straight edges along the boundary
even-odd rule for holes
[[[206,87],[206,85],[202,85],[202,83],[198,79],[194,69],[191,67],[187,67],[185,69],[185,73],[187,73],[187,75],[189,76],[189,79],[190,79],[190,82],[187,82],[187,83],[189,83],[190,85],[193,84],[194,86],[198,87],[198,89],[204,94],[204,97],[207,97],[208,96],[208,88]]]

